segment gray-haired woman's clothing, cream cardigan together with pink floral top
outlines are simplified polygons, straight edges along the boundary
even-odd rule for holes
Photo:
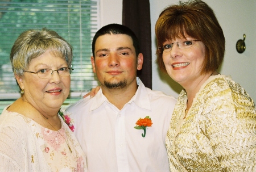
[[[9,142],[10,148],[1,148],[0,162],[5,162],[6,166],[0,167],[0,171],[8,171],[5,167],[10,170],[10,166],[15,171],[87,171],[86,157],[79,142],[59,118],[61,129],[52,131],[5,108],[0,115],[0,136],[10,138],[0,139],[0,145],[1,141],[3,145]],[[15,135],[9,134],[12,131]]]

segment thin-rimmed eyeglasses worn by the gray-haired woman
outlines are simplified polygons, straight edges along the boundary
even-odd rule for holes
[[[51,75],[52,75],[53,72],[55,72],[55,71],[57,71],[57,73],[58,73],[61,77],[68,77],[68,76],[72,73],[72,70],[74,70],[74,69],[72,69],[72,68],[60,68],[60,69],[58,69],[58,70],[40,69],[40,70],[38,70],[38,72],[31,72],[31,71],[23,70],[23,72],[36,73],[39,78],[48,79],[48,78],[51,78]]]

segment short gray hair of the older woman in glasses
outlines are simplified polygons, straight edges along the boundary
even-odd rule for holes
[[[49,50],[55,56],[63,58],[70,68],[73,58],[72,49],[72,46],[55,31],[47,28],[27,30],[19,35],[11,48],[11,67],[14,74],[21,76],[33,58]]]

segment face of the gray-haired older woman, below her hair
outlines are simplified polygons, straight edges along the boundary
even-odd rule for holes
[[[67,62],[56,57],[49,51],[33,58],[27,71],[38,72],[41,69],[58,70],[68,67]],[[71,77],[61,77],[56,71],[48,79],[39,78],[37,74],[24,72],[17,77],[21,89],[24,89],[24,101],[32,104],[39,112],[59,109],[67,99],[70,89]]]

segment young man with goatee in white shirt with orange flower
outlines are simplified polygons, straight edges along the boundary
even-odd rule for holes
[[[137,78],[143,64],[137,37],[109,24],[94,36],[92,51],[101,89],[67,110],[88,171],[170,171],[165,139],[176,99]]]

